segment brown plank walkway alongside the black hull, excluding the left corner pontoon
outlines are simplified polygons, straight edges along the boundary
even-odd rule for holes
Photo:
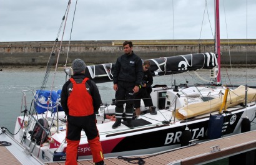
[[[220,151],[219,151],[220,149]],[[209,163],[221,158],[227,158],[235,154],[244,153],[256,149],[256,131],[249,131],[247,133],[227,136],[225,138],[205,141],[181,149],[172,149],[164,153],[157,153],[147,156],[127,157],[127,158],[141,158],[145,161],[145,165],[155,164],[199,164]],[[105,159],[107,165],[126,165],[132,164],[123,159],[111,158]],[[137,162],[137,160],[134,160]],[[48,165],[65,164],[63,163],[48,163]],[[91,165],[92,160],[79,161],[79,164]]]

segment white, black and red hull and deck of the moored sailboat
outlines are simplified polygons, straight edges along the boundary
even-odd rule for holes
[[[209,98],[209,92],[211,92],[212,98],[223,97],[222,95],[219,95],[219,93],[225,92],[225,88],[222,87],[197,87],[200,92],[199,97],[186,97],[184,94],[185,90],[193,88],[194,87],[179,89],[178,93],[180,97],[177,98],[176,108],[184,107],[187,102],[189,102],[190,105],[194,103],[202,103],[202,97],[204,96]],[[165,92],[167,92],[167,97],[163,100],[163,98],[159,96],[165,96]],[[164,102],[164,106],[169,107],[163,110],[159,110],[159,108],[157,108],[157,115],[150,115],[149,113],[140,115],[139,118],[134,120],[134,129],[129,129],[124,125],[125,122],[123,122],[117,129],[112,129],[114,121],[109,119],[102,120],[102,118],[104,118],[106,113],[109,113],[109,115],[114,113],[115,106],[104,105],[101,107],[99,115],[97,115],[97,121],[99,122],[97,123],[97,128],[99,130],[102,149],[106,158],[154,154],[160,151],[180,147],[180,138],[186,127],[189,128],[192,134],[192,139],[199,139],[199,141],[209,139],[207,137],[207,129],[210,113],[195,116],[187,121],[179,120],[177,118],[174,120],[173,111],[175,107],[175,95],[177,95],[177,92],[174,92],[173,89],[167,90],[167,88],[153,88],[151,95],[154,105],[160,107]],[[143,109],[145,110],[145,108],[142,108],[142,110]],[[240,133],[242,118],[245,118],[245,116],[248,116],[250,121],[255,119],[255,101],[250,101],[247,104],[246,112],[245,108],[241,105],[230,107],[227,111],[230,113],[222,114],[224,116],[222,136]],[[218,114],[218,111],[212,112],[212,115],[214,114]],[[59,119],[64,119],[64,116],[64,111],[60,111],[58,113]],[[38,118],[47,118],[49,120],[49,125],[51,125],[50,121],[53,117],[56,119],[56,113],[51,113],[50,111],[38,115]],[[38,156],[43,163],[64,161],[64,151],[67,144],[65,142],[65,123],[59,121],[60,131],[57,133],[57,122],[55,122],[51,129],[49,128],[49,130],[51,130],[51,136],[48,135],[49,140],[40,147],[35,143],[31,143],[31,134],[28,133],[29,130],[33,130],[34,128],[34,120],[29,122],[29,117],[25,116],[24,123],[26,123],[26,125],[27,123],[31,123],[31,125],[27,126],[27,129],[22,121],[23,116],[19,116],[16,121],[15,132],[19,130],[20,126],[22,126],[22,129],[14,136],[17,141],[21,142],[21,144],[25,146],[29,152],[32,152],[34,156]],[[104,121],[104,123],[102,123],[102,121]],[[250,130],[255,129],[256,125],[251,125]],[[27,136],[25,141],[22,141],[24,132],[26,132]],[[87,137],[84,132],[81,134],[81,143],[79,145],[78,155],[79,159],[92,158],[91,151],[87,143]]]

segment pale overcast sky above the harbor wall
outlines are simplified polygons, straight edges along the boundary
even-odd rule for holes
[[[0,0],[0,42],[55,40],[67,2]],[[71,40],[214,38],[213,0],[72,0],[64,40],[76,2]],[[220,39],[256,39],[255,16],[255,0],[220,0]]]

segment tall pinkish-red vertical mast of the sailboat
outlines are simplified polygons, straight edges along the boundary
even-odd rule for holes
[[[217,54],[218,62],[218,75],[216,84],[220,85],[220,12],[219,12],[219,0],[215,0],[215,54]]]

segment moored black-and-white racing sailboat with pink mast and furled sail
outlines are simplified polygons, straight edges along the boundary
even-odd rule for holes
[[[157,115],[150,115],[148,107],[142,104],[144,113],[134,118],[134,129],[127,127],[125,118],[121,126],[112,129],[115,100],[102,104],[97,128],[105,158],[153,154],[256,129],[251,124],[256,116],[256,90],[247,86],[231,90],[221,85],[219,0],[215,1],[215,10],[215,52],[149,59],[154,76],[209,69],[214,82],[190,87],[186,83],[153,87],[150,95]],[[54,56],[52,53],[51,57]],[[51,57],[49,64],[54,61]],[[96,83],[109,82],[113,67],[114,63],[87,66],[86,74]],[[71,71],[65,68],[67,77],[72,75]],[[47,69],[46,72],[48,75]],[[17,117],[15,132],[18,133],[14,139],[26,148],[27,154],[37,156],[42,163],[65,161],[66,119],[59,103],[59,91],[46,91],[42,86],[35,93],[32,90],[22,93],[22,115]],[[32,95],[32,101],[27,100],[28,95]],[[78,159],[92,159],[85,133],[81,134]]]

